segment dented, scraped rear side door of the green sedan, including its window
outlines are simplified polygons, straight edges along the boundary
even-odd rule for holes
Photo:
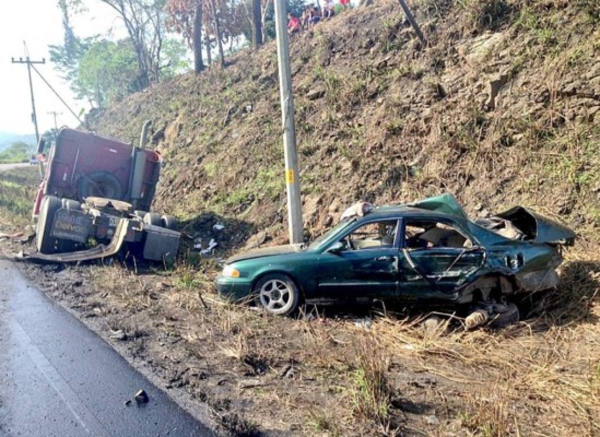
[[[479,270],[485,259],[482,247],[451,220],[406,219],[402,241],[398,293],[407,302],[454,301],[455,289]]]

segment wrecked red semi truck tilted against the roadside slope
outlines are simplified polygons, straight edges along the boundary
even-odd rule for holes
[[[38,253],[26,258],[85,261],[115,255],[124,246],[152,261],[175,258],[181,237],[175,217],[149,212],[161,166],[160,154],[145,148],[149,125],[143,125],[139,147],[59,131],[34,203]],[[40,142],[38,153],[44,147]]]

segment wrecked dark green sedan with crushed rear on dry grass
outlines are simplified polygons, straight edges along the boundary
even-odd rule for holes
[[[512,321],[511,297],[557,286],[560,246],[575,241],[571,229],[520,206],[472,222],[450,194],[355,212],[308,245],[233,256],[218,291],[277,315],[302,301],[378,299],[463,307],[472,324]]]

